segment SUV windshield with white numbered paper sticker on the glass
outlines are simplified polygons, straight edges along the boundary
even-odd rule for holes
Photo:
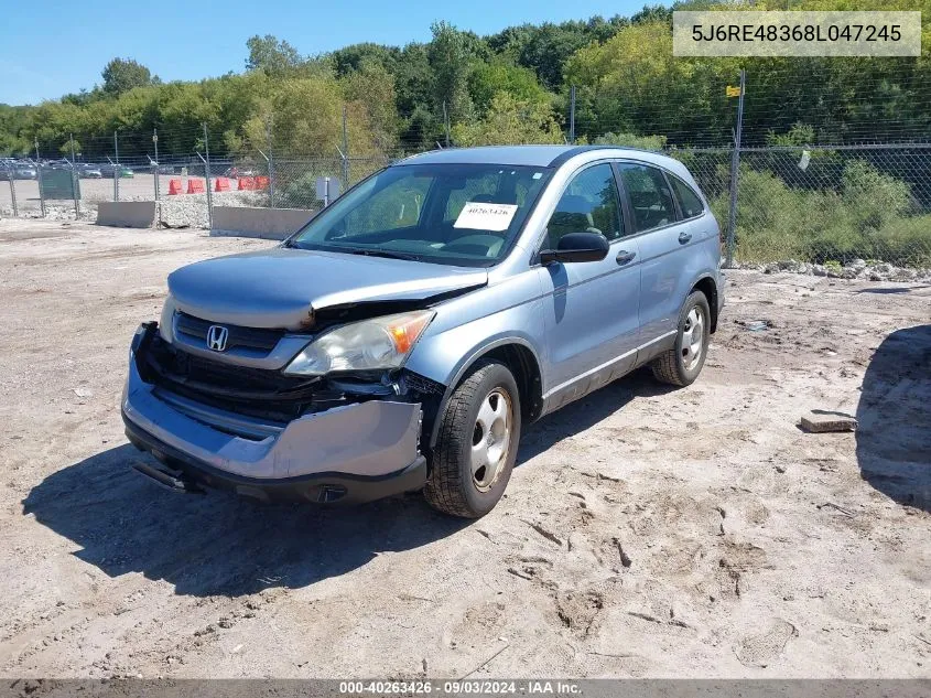
[[[504,258],[550,176],[548,168],[410,164],[337,198],[289,245],[458,266]]]

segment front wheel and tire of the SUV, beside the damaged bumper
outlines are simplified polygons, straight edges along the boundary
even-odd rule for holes
[[[520,394],[513,375],[498,362],[479,362],[440,419],[424,497],[445,514],[485,516],[505,493],[517,458]]]

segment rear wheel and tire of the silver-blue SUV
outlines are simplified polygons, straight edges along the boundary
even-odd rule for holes
[[[675,345],[653,359],[653,375],[661,383],[684,387],[702,373],[711,340],[711,309],[701,291],[693,291],[679,312]]]

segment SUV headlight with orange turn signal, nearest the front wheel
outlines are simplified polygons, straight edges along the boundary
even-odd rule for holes
[[[418,310],[354,322],[322,334],[284,369],[302,376],[400,368],[436,313]]]

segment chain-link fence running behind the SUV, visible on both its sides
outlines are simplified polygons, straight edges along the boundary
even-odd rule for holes
[[[121,138],[112,139],[113,154],[102,163],[4,161],[0,214],[93,221],[101,202],[156,201],[159,225],[208,228],[215,206],[317,211],[390,160],[261,151],[210,160],[206,131],[202,150],[158,153],[153,143],[151,154],[120,157]],[[728,262],[830,268],[862,259],[931,268],[931,143],[755,147],[736,158],[733,147],[665,152],[689,167],[705,192]],[[328,195],[321,187],[327,180]]]

